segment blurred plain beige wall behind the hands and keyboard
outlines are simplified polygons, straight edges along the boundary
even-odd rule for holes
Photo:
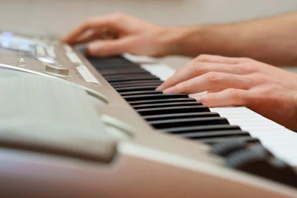
[[[251,20],[297,10],[297,0],[0,0],[3,30],[63,36],[86,17],[123,12],[161,25]],[[175,68],[188,58],[161,62]]]

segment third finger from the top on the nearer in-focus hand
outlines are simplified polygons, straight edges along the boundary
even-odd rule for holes
[[[229,88],[248,89],[248,78],[237,74],[209,72],[190,80],[181,82],[173,87],[165,89],[164,94],[196,94],[208,90],[225,90]]]

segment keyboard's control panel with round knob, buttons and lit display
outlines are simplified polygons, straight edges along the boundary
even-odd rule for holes
[[[105,100],[108,96],[102,94],[113,93],[110,85],[78,51],[55,38],[0,32],[0,67],[64,79]]]

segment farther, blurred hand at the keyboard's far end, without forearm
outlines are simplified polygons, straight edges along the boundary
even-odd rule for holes
[[[86,19],[62,41],[70,45],[91,42],[87,49],[91,55],[129,52],[160,57],[173,53],[172,44],[183,31],[182,28],[165,28],[116,13]]]

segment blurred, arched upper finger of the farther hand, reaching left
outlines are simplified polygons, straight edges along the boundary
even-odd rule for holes
[[[71,43],[77,39],[81,34],[85,33],[89,29],[93,28],[106,28],[113,31],[123,31],[121,22],[117,20],[117,17],[105,16],[105,17],[93,17],[85,20],[77,28],[68,33],[63,39],[63,42]]]

